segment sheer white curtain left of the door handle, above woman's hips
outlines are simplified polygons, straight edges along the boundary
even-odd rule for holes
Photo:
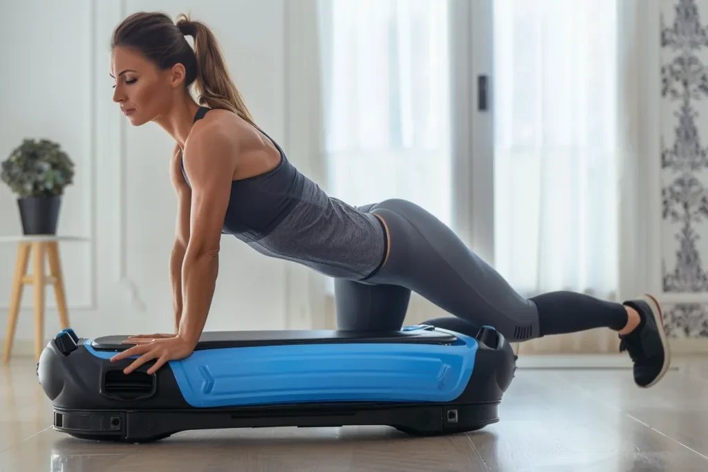
[[[447,0],[321,0],[333,197],[399,197],[452,219]]]

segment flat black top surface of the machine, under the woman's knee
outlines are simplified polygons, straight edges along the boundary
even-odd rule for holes
[[[131,344],[121,344],[127,335],[96,338],[91,347],[98,351],[125,350]],[[258,331],[206,331],[202,333],[195,350],[222,349],[226,347],[251,347],[290,344],[329,343],[421,343],[451,344],[457,337],[430,329],[409,331],[346,331],[346,330],[258,330]]]

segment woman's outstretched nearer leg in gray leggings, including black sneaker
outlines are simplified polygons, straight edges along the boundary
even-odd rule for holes
[[[386,222],[391,246],[387,263],[366,283],[410,289],[474,326],[493,326],[512,342],[610,328],[622,333],[636,366],[650,372],[638,383],[651,384],[666,372],[668,346],[656,300],[618,304],[567,291],[526,299],[418,205],[392,199],[369,211]],[[636,329],[628,333],[629,328]]]

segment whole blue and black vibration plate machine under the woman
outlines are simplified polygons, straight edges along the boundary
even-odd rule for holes
[[[399,331],[202,333],[154,374],[110,362],[126,336],[62,330],[37,364],[54,428],[82,439],[149,442],[185,430],[388,425],[409,434],[498,422],[516,357],[501,333],[423,323]]]

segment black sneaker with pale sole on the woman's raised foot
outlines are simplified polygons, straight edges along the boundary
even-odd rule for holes
[[[663,316],[658,301],[649,294],[625,301],[639,313],[639,326],[632,333],[620,335],[619,352],[625,350],[634,362],[634,382],[648,388],[666,374],[671,352],[664,332]]]

